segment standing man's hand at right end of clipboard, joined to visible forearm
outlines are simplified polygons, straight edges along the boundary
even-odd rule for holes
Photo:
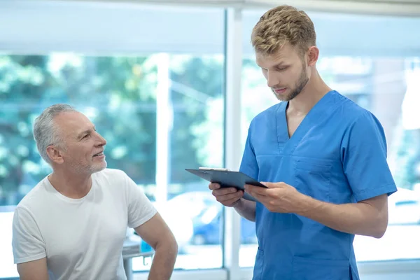
[[[302,208],[305,195],[299,193],[293,186],[283,182],[261,183],[267,188],[245,185],[245,191],[264,204],[269,211],[297,213]]]

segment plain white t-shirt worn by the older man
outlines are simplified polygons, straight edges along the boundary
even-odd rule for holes
[[[92,174],[92,188],[71,199],[47,177],[13,216],[15,263],[47,258],[50,279],[126,279],[123,243],[156,209],[130,177],[116,169]]]

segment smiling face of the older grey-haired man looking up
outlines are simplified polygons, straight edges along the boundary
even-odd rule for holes
[[[78,112],[60,113],[55,123],[64,140],[65,149],[60,151],[64,168],[79,174],[93,174],[106,168],[106,140],[96,132],[85,115]]]

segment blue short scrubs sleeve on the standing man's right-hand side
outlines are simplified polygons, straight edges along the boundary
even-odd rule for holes
[[[346,131],[341,155],[344,174],[357,202],[397,190],[386,162],[384,129],[372,113],[363,113]]]

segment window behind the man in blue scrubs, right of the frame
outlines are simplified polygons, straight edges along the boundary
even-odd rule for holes
[[[251,29],[262,13],[264,11],[244,13],[245,25],[249,27],[244,42],[249,42]],[[379,38],[379,34],[385,32],[385,25],[380,22],[393,22],[411,28],[419,20],[360,15],[341,17],[324,13],[309,13],[309,16],[313,17],[321,52],[317,63],[319,73],[330,87],[379,118],[386,133],[388,164],[398,186],[398,192],[389,197],[386,234],[381,239],[356,236],[353,243],[356,260],[420,258],[417,241],[420,230],[420,115],[417,108],[420,104],[420,57],[405,52],[409,48],[419,48],[420,40],[410,38],[405,43],[394,44],[392,48],[379,43],[385,40]],[[340,34],[337,26],[356,20],[361,20],[369,28],[375,27],[370,32],[373,35],[365,37],[365,25],[346,25],[349,36],[353,37],[347,38],[346,35],[346,43],[343,43],[337,38]],[[370,25],[367,25],[368,22]],[[330,36],[333,31],[335,36]],[[357,34],[362,34],[364,39],[356,39]],[[351,45],[352,40],[357,42],[356,45]],[[372,51],[372,45],[377,52]],[[247,46],[242,72],[243,146],[252,118],[277,102],[254,60],[252,50]],[[245,223],[242,225],[244,227]],[[251,229],[255,230],[255,225],[247,226],[247,230]],[[242,241],[239,265],[253,266],[257,247],[257,244]]]

